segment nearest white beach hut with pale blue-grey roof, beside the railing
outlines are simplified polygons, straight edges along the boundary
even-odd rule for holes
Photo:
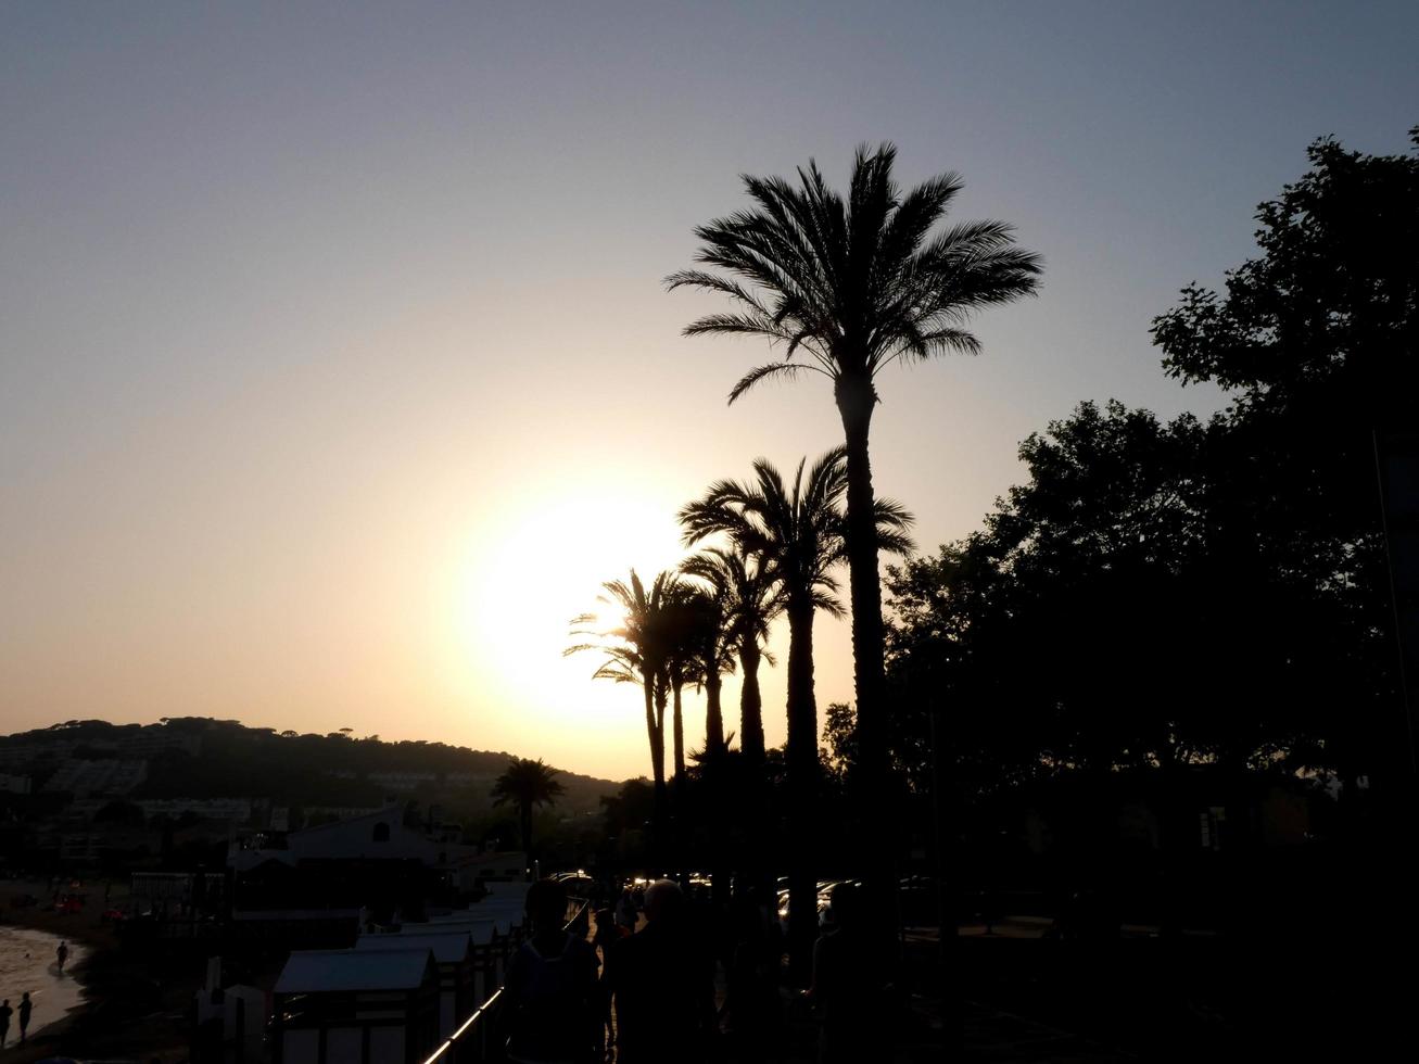
[[[438,969],[424,948],[308,949],[275,985],[275,1064],[419,1064],[438,1046]]]

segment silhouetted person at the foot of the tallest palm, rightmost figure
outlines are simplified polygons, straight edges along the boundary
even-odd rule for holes
[[[833,926],[813,943],[809,1000],[822,1014],[819,1064],[874,1060],[873,1024],[881,1021],[883,983],[863,928],[861,899],[850,882],[829,895]]]

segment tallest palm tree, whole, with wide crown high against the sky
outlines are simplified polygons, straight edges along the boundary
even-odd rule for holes
[[[1019,248],[1000,221],[931,231],[961,192],[955,173],[908,192],[893,180],[897,149],[857,149],[844,199],[809,160],[797,186],[782,177],[744,177],[751,210],[695,230],[702,247],[687,270],[666,278],[728,297],[735,309],[691,322],[685,333],[763,336],[783,343],[783,359],[749,370],[729,392],[732,403],[761,380],[820,373],[847,447],[847,560],[853,606],[853,668],[857,688],[863,803],[868,823],[887,794],[881,582],[877,569],[868,428],[878,397],[877,373],[894,362],[975,353],[964,326],[982,308],[1036,291],[1040,258]],[[722,272],[715,272],[722,271]],[[795,355],[803,360],[795,362]],[[878,813],[878,816],[873,816]],[[893,882],[891,867],[873,877]]]

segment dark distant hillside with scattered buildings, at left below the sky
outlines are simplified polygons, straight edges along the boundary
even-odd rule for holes
[[[220,870],[236,840],[397,807],[443,843],[518,840],[491,790],[512,755],[426,742],[301,735],[236,721],[68,721],[0,738],[0,867],[126,874]],[[299,770],[291,770],[299,766]],[[568,863],[599,836],[617,783],[559,772],[539,837]]]

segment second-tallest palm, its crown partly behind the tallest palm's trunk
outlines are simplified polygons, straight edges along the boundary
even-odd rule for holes
[[[809,867],[809,838],[819,789],[817,702],[813,694],[813,616],[841,616],[833,567],[844,556],[841,499],[847,489],[843,448],[819,458],[803,478],[799,462],[789,488],[766,460],[753,462],[755,482],[719,481],[680,511],[688,542],[725,533],[758,556],[783,596],[789,619],[786,763],[793,820],[789,857],[789,956],[803,979],[817,928],[817,901]],[[891,549],[907,549],[911,516],[894,502],[876,504],[873,531]]]

